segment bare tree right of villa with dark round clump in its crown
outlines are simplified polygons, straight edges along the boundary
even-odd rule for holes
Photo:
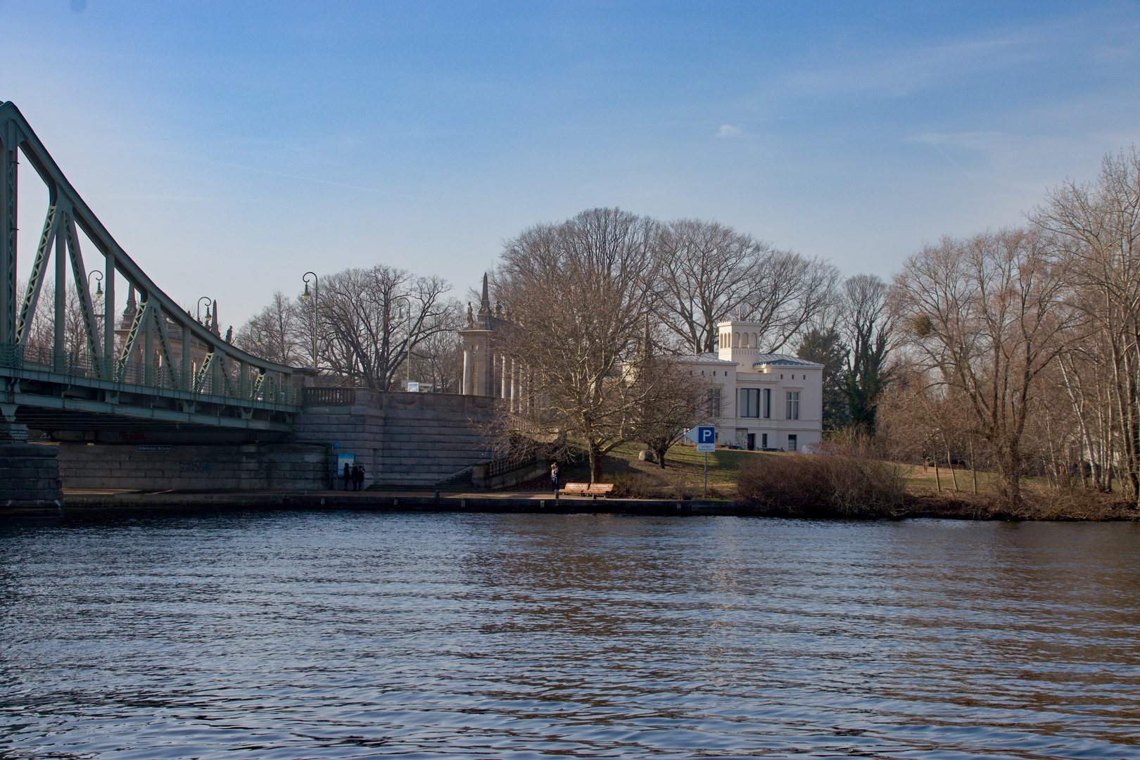
[[[1058,334],[1074,322],[1066,286],[1062,262],[1042,235],[1017,229],[943,238],[895,277],[912,345],[969,400],[972,432],[993,450],[1015,507],[1031,399],[1064,346]]]

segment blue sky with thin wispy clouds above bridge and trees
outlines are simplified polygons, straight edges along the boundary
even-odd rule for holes
[[[309,269],[462,296],[505,238],[601,205],[888,276],[1140,132],[1137,2],[711,5],[0,0],[0,100],[235,325]]]

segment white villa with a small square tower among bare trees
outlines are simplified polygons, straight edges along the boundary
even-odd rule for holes
[[[760,353],[760,325],[717,325],[717,353],[686,360],[714,384],[709,414],[717,443],[741,449],[803,451],[823,440],[823,365]]]

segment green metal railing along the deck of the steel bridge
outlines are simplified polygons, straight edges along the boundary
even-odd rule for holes
[[[286,406],[301,406],[306,390],[293,387],[284,376],[270,373],[254,373],[243,377],[234,368],[226,371],[217,367],[203,371],[196,366],[184,373],[161,362],[147,365],[142,361],[97,359],[71,351],[55,353],[47,346],[11,343],[0,343],[0,367]]]

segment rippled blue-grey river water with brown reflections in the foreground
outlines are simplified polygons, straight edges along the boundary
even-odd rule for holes
[[[1140,758],[1140,528],[0,525],[0,758]]]

